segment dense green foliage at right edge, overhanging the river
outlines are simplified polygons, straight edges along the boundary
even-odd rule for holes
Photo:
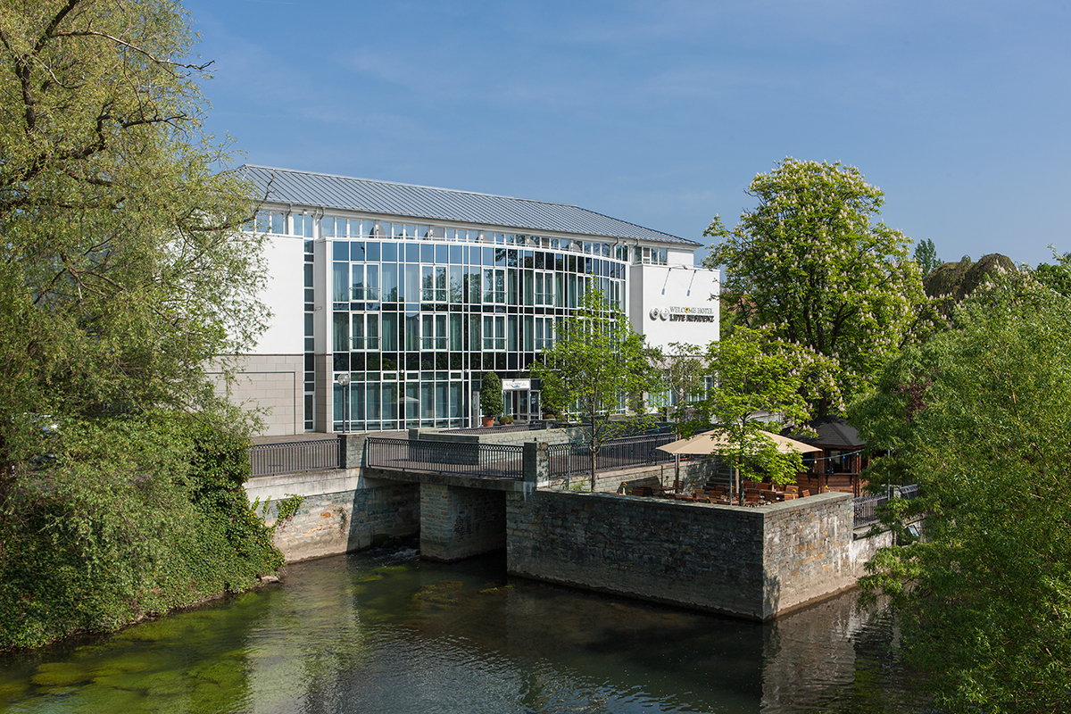
[[[892,362],[853,410],[917,481],[924,542],[887,549],[864,586],[893,595],[908,664],[948,712],[1071,709],[1071,301],[1009,275],[951,330]]]

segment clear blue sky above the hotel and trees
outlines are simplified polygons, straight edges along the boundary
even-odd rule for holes
[[[187,0],[252,164],[575,203],[706,243],[785,156],[942,260],[1071,250],[1071,3]],[[700,252],[700,256],[705,252]]]

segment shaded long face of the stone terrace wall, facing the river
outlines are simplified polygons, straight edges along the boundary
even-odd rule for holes
[[[763,619],[757,508],[510,493],[506,547],[512,575]]]

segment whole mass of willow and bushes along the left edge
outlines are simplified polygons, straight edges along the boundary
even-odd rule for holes
[[[265,271],[191,36],[167,0],[0,10],[0,647],[278,564],[205,373],[263,325]]]

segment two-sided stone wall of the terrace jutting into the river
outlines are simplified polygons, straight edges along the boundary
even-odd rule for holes
[[[768,620],[855,583],[851,499],[746,508],[607,493],[507,496],[513,575]]]

